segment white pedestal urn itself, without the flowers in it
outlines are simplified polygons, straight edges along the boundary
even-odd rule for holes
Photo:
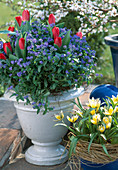
[[[14,101],[14,106],[25,135],[32,140],[33,145],[25,153],[25,159],[29,163],[36,165],[56,165],[68,159],[68,151],[60,142],[68,129],[63,126],[54,126],[55,114],[63,110],[64,121],[67,122],[66,115],[73,108],[72,100],[84,92],[83,87],[71,89],[62,95],[49,96],[50,106],[55,107],[45,115],[37,114],[32,105],[24,105],[23,101],[16,102],[15,97],[11,97],[12,92],[6,92],[4,97]]]

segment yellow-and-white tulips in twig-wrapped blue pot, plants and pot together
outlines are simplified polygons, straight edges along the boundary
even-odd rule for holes
[[[76,103],[75,103],[76,104]],[[72,126],[62,119],[70,130],[69,157],[80,158],[86,170],[116,170],[118,166],[118,95],[105,100],[89,99],[86,109],[78,99],[78,110],[67,116]],[[58,118],[58,117],[57,117]]]

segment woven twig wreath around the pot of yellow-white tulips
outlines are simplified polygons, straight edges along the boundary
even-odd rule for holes
[[[80,157],[92,163],[107,164],[118,159],[118,144],[106,144],[109,156],[106,155],[100,144],[92,143],[88,153],[89,142],[80,140],[76,146],[76,154],[74,156]]]

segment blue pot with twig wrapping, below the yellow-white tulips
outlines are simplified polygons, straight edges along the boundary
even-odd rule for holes
[[[101,144],[92,143],[89,152],[88,146],[88,141],[79,140],[76,154],[73,155],[73,159],[80,158],[80,166],[83,170],[118,169],[118,144],[105,144],[109,156],[106,155]]]

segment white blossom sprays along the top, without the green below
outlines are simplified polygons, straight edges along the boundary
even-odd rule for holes
[[[79,31],[83,34],[107,32],[107,24],[111,23],[113,29],[116,27],[116,17],[118,17],[118,1],[115,0],[42,0],[26,3],[32,15],[36,18],[48,17],[50,13],[54,13],[56,21],[60,21],[69,12],[76,11],[76,20],[80,23]],[[23,5],[24,1],[19,1],[19,5]],[[113,19],[115,18],[115,19]]]

